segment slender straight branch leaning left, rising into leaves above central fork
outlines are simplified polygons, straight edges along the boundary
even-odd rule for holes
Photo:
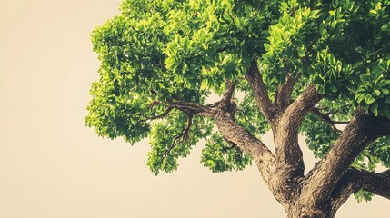
[[[263,78],[260,75],[257,63],[255,61],[252,62],[251,67],[246,73],[246,80],[255,94],[256,103],[262,113],[265,115],[265,119],[269,124],[273,124],[275,117],[275,106],[269,99]]]

